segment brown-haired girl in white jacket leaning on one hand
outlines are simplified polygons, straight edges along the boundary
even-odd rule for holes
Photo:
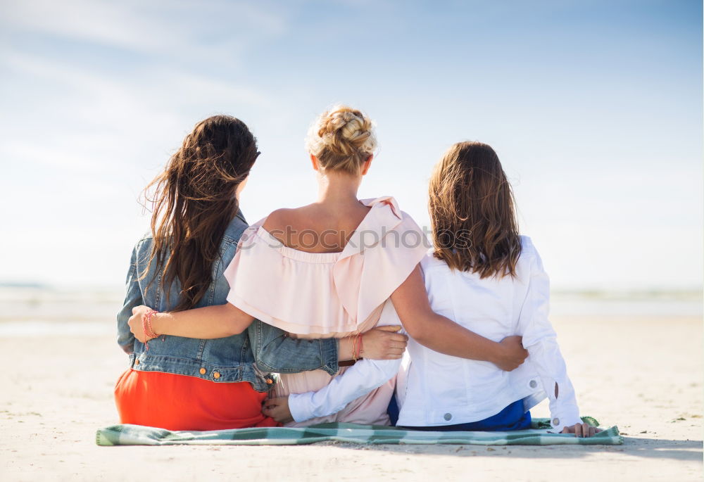
[[[538,251],[518,234],[513,191],[490,146],[460,142],[429,187],[434,249],[422,260],[433,310],[493,340],[522,336],[529,356],[513,372],[448,357],[411,339],[398,376],[398,425],[420,430],[527,429],[550,400],[562,433],[598,431],[579,418],[574,388],[548,320],[550,287]]]

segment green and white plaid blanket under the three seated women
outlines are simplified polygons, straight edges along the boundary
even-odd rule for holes
[[[591,417],[582,417],[598,426]],[[548,433],[548,419],[534,419],[527,430],[510,432],[426,432],[390,426],[320,424],[302,429],[269,427],[213,431],[170,431],[141,425],[113,425],[96,433],[98,445],[306,445],[337,442],[378,445],[621,445],[623,437],[612,426],[596,436],[577,438],[567,433]]]

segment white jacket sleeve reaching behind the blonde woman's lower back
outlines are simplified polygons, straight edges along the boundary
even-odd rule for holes
[[[386,300],[377,326],[401,324],[391,300]],[[382,386],[398,372],[401,360],[360,360],[317,392],[291,393],[289,410],[295,421],[325,417],[342,410],[352,400]]]

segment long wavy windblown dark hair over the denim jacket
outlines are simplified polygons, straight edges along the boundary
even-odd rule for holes
[[[172,311],[195,307],[208,291],[220,241],[239,208],[237,186],[258,155],[244,122],[214,115],[196,124],[164,171],[146,186],[154,242],[142,278],[156,260],[156,271],[164,270],[162,287],[179,281],[179,302]]]

